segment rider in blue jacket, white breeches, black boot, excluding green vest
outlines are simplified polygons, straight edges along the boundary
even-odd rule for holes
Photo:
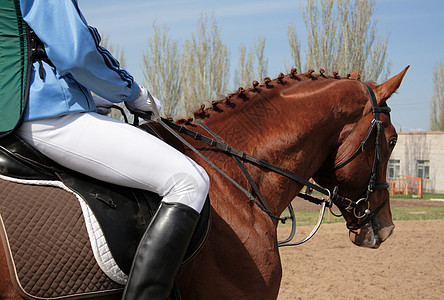
[[[91,91],[151,110],[147,91],[99,46],[77,0],[20,0],[47,59],[33,64],[17,134],[60,165],[163,197],[133,261],[123,299],[166,299],[209,189],[205,170],[159,139],[98,114]],[[159,105],[159,103],[156,103]]]

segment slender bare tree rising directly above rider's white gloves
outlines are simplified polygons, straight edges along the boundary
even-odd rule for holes
[[[168,32],[167,25],[160,28],[153,22],[153,35],[143,53],[143,73],[147,88],[162,101],[163,114],[173,117],[180,111],[180,55],[177,41]]]

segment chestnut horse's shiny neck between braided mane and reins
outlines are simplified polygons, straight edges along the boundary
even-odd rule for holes
[[[195,115],[231,147],[309,179],[322,166],[345,125],[341,121],[344,112],[335,109],[337,99],[329,96],[329,84],[257,87],[231,94]],[[234,163],[225,166],[230,177],[245,182]],[[250,164],[247,169],[278,215],[303,187]]]

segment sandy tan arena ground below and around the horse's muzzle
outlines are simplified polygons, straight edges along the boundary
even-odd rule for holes
[[[444,202],[392,200],[391,206],[444,207]],[[353,245],[343,223],[323,224],[307,243],[281,248],[278,299],[444,299],[444,220],[394,223],[393,236],[376,250]],[[282,238],[289,230],[279,229]],[[311,230],[299,227],[296,239]]]

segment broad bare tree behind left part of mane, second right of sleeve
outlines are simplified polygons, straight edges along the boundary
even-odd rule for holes
[[[211,28],[208,30],[208,23]],[[222,42],[214,15],[202,13],[197,35],[185,41],[181,60],[183,108],[189,115],[199,104],[227,93],[229,51]]]

